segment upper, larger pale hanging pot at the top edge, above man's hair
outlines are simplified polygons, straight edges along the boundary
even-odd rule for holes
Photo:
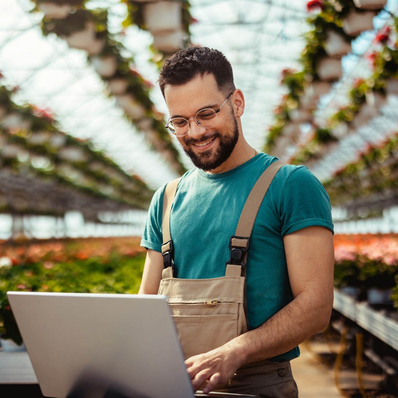
[[[182,24],[181,3],[160,1],[144,4],[142,14],[151,33],[178,30]]]

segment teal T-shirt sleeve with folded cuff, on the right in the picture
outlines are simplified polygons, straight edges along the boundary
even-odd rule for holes
[[[312,225],[324,226],[334,235],[329,195],[306,166],[298,166],[287,177],[279,211],[282,237]]]

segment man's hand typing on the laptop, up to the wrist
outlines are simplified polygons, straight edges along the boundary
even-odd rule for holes
[[[207,381],[203,388],[203,392],[207,394],[216,385],[227,384],[243,362],[232,347],[222,345],[207,353],[188,358],[185,365],[194,391]]]

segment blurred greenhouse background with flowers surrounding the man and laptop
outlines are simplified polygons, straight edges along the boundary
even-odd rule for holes
[[[158,71],[205,45],[232,64],[249,144],[307,166],[332,203],[334,310],[291,362],[300,396],[398,397],[398,0],[0,10],[0,390],[37,383],[8,290],[138,292],[150,199],[193,168]]]

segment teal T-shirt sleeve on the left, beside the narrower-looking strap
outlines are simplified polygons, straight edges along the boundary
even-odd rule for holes
[[[163,193],[166,184],[160,187],[152,196],[148,215],[146,217],[146,223],[140,246],[146,249],[156,250],[156,252],[162,253],[162,212],[163,212]]]

